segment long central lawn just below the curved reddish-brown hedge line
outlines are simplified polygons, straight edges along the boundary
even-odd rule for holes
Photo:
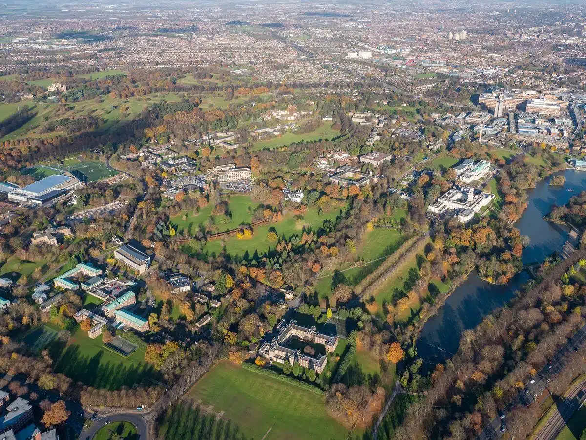
[[[340,208],[332,209],[332,211],[329,212],[318,212],[317,207],[308,208],[303,216],[305,228],[311,228],[315,231],[323,226],[324,221],[335,221],[339,214]],[[254,228],[254,235],[250,239],[239,239],[236,235],[233,235],[225,239],[222,238],[209,241],[204,248],[204,254],[219,255],[225,246],[226,252],[234,257],[242,257],[244,254],[248,253],[248,257],[251,258],[255,252],[258,252],[258,255],[263,255],[269,248],[274,247],[277,244],[271,243],[267,239],[267,233],[270,229],[274,228],[279,236],[289,237],[294,234],[301,236],[303,232],[302,227],[303,226],[300,227],[297,225],[295,215],[292,213],[285,214],[283,220],[277,224],[263,224],[256,226]]]

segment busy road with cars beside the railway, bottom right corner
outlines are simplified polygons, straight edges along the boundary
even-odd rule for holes
[[[541,368],[533,380],[527,383],[526,387],[519,391],[519,394],[515,396],[513,401],[503,409],[503,414],[505,414],[505,427],[507,412],[517,405],[529,407],[529,405],[535,402],[537,396],[541,395],[541,393],[546,390],[547,384],[550,383],[551,379],[554,378],[557,373],[560,373],[561,369],[565,367],[568,362],[568,354],[584,347],[586,347],[586,325],[582,326],[581,329],[578,330],[570,340],[568,340],[567,344],[558,350],[551,361]],[[478,435],[478,440],[495,440],[501,438],[503,435],[504,432],[500,432],[500,419],[499,417],[495,417]]]

